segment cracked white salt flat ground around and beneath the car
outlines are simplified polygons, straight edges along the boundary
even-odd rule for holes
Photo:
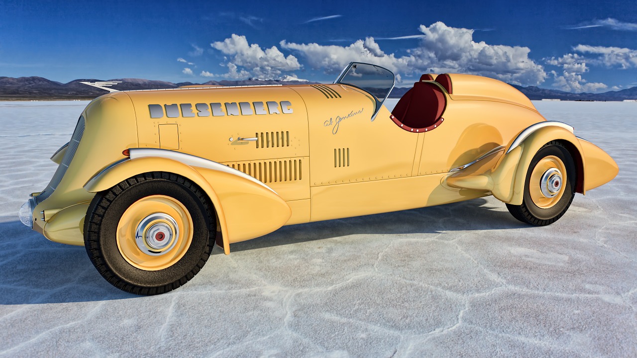
[[[637,356],[636,103],[535,103],[620,167],[551,226],[487,197],[283,227],[154,297],[17,219],[85,104],[0,103],[0,356]]]

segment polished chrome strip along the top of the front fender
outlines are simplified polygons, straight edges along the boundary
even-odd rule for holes
[[[243,173],[243,171],[238,171],[237,169],[230,168],[229,166],[224,166],[224,164],[219,164],[218,162],[209,161],[208,159],[204,159],[202,157],[197,157],[196,155],[190,155],[180,152],[175,152],[174,150],[168,149],[157,149],[157,148],[131,148],[131,161],[135,159],[147,158],[147,157],[159,157],[171,159],[173,161],[181,162],[186,164],[187,166],[196,166],[198,168],[211,169],[216,171],[222,171],[224,173],[229,173],[232,175],[240,176],[241,178],[250,180],[250,182],[257,183],[264,188],[269,189],[271,192],[275,193],[271,187],[265,185],[254,177]],[[276,194],[278,195],[278,194]]]

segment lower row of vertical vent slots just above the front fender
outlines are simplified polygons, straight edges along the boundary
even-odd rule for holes
[[[262,183],[294,182],[303,179],[301,159],[239,162],[225,165],[243,171]]]

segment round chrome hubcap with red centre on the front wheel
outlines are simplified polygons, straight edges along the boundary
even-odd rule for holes
[[[163,255],[177,243],[179,226],[166,213],[154,213],[141,220],[135,231],[135,241],[141,252],[148,255]]]

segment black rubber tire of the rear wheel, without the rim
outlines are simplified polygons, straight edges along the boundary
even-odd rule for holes
[[[531,183],[529,182],[533,168],[535,168],[541,159],[550,155],[554,155],[561,159],[564,166],[566,166],[566,184],[562,197],[559,201],[557,201],[557,203],[550,208],[540,208],[533,202],[533,199],[531,199],[529,191],[529,185],[531,185]],[[561,218],[562,215],[566,213],[569,206],[571,206],[573,197],[575,197],[576,182],[576,169],[573,157],[571,157],[571,154],[568,152],[566,147],[564,147],[564,145],[562,145],[559,141],[550,141],[538,150],[531,160],[531,164],[529,164],[526,181],[524,183],[524,197],[522,199],[522,205],[506,204],[506,208],[513,217],[526,224],[531,224],[533,226],[547,226],[553,224]]]

